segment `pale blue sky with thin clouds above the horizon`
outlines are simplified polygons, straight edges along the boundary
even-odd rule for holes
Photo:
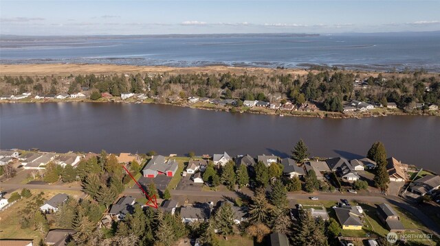
[[[0,34],[430,32],[439,13],[440,1],[0,0]]]

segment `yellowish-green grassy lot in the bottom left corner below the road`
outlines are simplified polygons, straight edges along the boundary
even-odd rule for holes
[[[18,193],[21,190],[16,190]],[[26,239],[34,239],[34,244],[38,243],[41,238],[44,238],[45,235],[40,234],[30,228],[22,229],[20,227],[20,219],[21,216],[19,212],[25,208],[28,204],[30,204],[36,196],[43,192],[43,199],[50,199],[54,195],[58,193],[66,193],[67,195],[72,195],[72,197],[78,199],[80,192],[76,190],[31,190],[32,197],[22,198],[14,205],[10,206],[6,210],[0,212],[0,238],[26,238]]]

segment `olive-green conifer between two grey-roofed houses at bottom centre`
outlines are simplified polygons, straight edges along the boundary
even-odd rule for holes
[[[222,235],[234,233],[234,210],[230,202],[224,201],[214,214],[214,226]]]

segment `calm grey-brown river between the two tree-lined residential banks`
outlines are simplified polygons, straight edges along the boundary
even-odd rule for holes
[[[1,103],[0,148],[188,151],[285,157],[303,138],[311,156],[358,158],[376,140],[388,156],[440,172],[440,117],[319,119],[129,103]]]

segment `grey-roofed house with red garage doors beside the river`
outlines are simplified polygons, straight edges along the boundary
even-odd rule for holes
[[[179,164],[175,160],[165,160],[164,156],[153,156],[142,169],[144,177],[156,177],[157,175],[167,175],[173,177]]]

